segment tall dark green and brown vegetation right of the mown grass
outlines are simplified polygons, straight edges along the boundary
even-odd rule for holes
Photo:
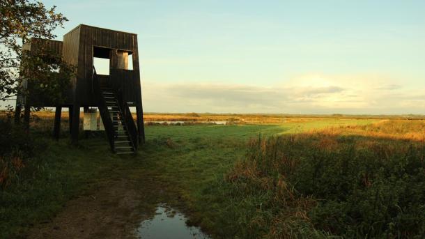
[[[400,124],[404,133],[424,128],[420,121]],[[358,128],[394,132],[401,127],[393,122],[355,130]],[[242,210],[256,208],[249,219],[261,223],[246,229],[250,233],[263,229],[256,236],[275,238],[270,232],[276,231],[277,219],[288,210],[298,210],[297,215],[307,210],[307,217],[297,225],[311,232],[344,238],[423,238],[424,155],[423,139],[323,133],[260,137],[251,142],[246,159],[236,165],[224,184],[230,188],[227,195],[241,200]],[[279,195],[282,184],[289,190]],[[282,198],[293,204],[281,202]],[[315,205],[305,203],[307,199],[314,199]],[[235,220],[245,222],[246,218]],[[291,228],[293,221],[279,228]],[[284,234],[288,236],[293,237]]]

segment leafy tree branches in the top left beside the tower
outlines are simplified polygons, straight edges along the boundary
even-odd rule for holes
[[[38,1],[0,1],[0,100],[29,95],[31,90],[36,93],[33,99],[49,95],[51,102],[63,100],[73,68],[42,44],[31,50],[22,50],[22,44],[31,38],[56,38],[54,29],[65,21],[56,7],[45,8]]]

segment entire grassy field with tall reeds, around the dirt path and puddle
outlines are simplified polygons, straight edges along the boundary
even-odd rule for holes
[[[424,125],[367,118],[146,125],[138,155],[118,157],[102,135],[71,146],[66,123],[62,138],[50,139],[52,118],[40,117],[31,132],[36,153],[1,190],[1,236],[24,236],[70,199],[127,178],[148,194],[145,210],[167,202],[214,238],[420,238]]]

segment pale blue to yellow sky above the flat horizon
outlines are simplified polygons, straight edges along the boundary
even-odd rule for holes
[[[425,1],[42,1],[137,33],[144,111],[425,114]]]

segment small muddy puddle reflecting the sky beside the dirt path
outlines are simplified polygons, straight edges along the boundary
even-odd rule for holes
[[[157,206],[153,218],[141,222],[136,233],[143,239],[210,238],[196,226],[187,226],[185,215],[164,204]]]

